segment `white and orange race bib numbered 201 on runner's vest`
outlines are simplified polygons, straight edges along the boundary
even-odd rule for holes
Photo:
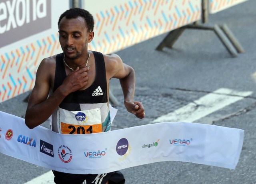
[[[58,108],[57,116],[61,134],[102,132],[100,108],[81,111],[68,111]]]

